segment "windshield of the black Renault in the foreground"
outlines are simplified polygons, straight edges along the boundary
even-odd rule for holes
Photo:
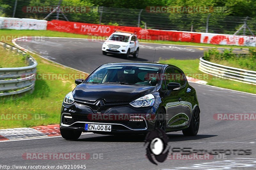
[[[162,67],[147,65],[103,65],[85,83],[109,83],[156,86]]]

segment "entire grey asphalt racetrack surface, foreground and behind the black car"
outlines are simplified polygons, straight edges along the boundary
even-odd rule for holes
[[[56,41],[56,42],[55,42]],[[66,42],[65,42],[66,41]],[[71,42],[72,41],[72,42]],[[78,41],[78,42],[76,42]],[[50,39],[47,43],[17,42],[23,48],[48,56],[49,59],[85,72],[92,71],[102,62],[119,59],[101,54],[100,45],[77,39]],[[55,43],[55,45],[54,45]],[[149,46],[161,46],[151,45]],[[98,48],[97,48],[98,46]],[[166,45],[162,45],[166,46]],[[67,49],[67,47],[69,47]],[[75,47],[75,49],[73,49]],[[37,49],[38,48],[38,49]],[[183,48],[183,47],[182,47]],[[167,52],[166,52],[167,51]],[[158,49],[163,58],[198,58],[202,52]],[[46,54],[47,53],[47,54]],[[180,54],[179,54],[180,53]],[[140,59],[151,61],[153,50],[141,49]],[[196,57],[197,55],[197,57]],[[187,56],[187,57],[186,57]],[[133,59],[131,59],[133,61]],[[87,62],[82,62],[87,61]],[[93,63],[94,62],[94,63]],[[90,66],[90,67],[87,67]],[[3,165],[86,165],[86,169],[256,169],[255,120],[215,120],[217,113],[256,113],[256,96],[227,89],[190,82],[196,89],[201,110],[200,128],[195,137],[185,137],[182,132],[168,133],[168,145],[197,150],[252,150],[251,155],[233,152],[225,159],[195,160],[167,159],[157,166],[145,156],[144,136],[115,137],[111,135],[83,134],[78,141],[61,137],[0,142],[0,160]],[[58,113],[56,113],[58,114]],[[88,160],[25,160],[23,153],[90,153]],[[103,159],[93,159],[93,153],[103,154]],[[240,154],[243,152],[239,152]],[[92,158],[92,159],[91,159]],[[218,161],[218,162],[215,162]]]

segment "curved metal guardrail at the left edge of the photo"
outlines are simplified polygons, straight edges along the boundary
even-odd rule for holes
[[[0,42],[0,45],[27,55],[23,50],[10,44]],[[26,67],[0,68],[0,96],[20,94],[34,89],[37,62],[31,55],[27,60]]]

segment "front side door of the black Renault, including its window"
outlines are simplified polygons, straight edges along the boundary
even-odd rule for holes
[[[162,82],[163,97],[162,102],[166,110],[166,128],[175,127],[177,124],[177,119],[179,118],[181,105],[179,101],[179,91],[173,90],[168,95],[167,84],[175,82],[175,77],[172,67],[167,67],[164,72],[164,80]]]

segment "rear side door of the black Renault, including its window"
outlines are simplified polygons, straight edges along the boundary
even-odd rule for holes
[[[180,125],[186,125],[189,122],[189,118],[191,117],[192,104],[190,100],[188,100],[187,93],[189,92],[189,87],[187,83],[187,79],[182,70],[177,67],[173,67],[173,71],[175,74],[175,82],[180,83],[179,89],[179,101],[180,101]],[[191,90],[191,89],[190,89]]]

